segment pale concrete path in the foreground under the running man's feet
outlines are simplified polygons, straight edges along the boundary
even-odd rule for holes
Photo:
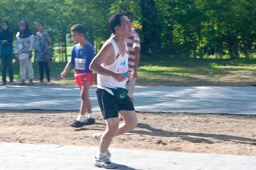
[[[0,170],[102,170],[96,147],[0,143]],[[116,170],[256,170],[255,156],[110,148]]]

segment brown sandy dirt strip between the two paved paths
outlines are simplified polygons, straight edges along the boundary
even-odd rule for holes
[[[96,147],[91,136],[105,130],[96,124],[70,127],[78,111],[0,110],[0,142]],[[138,126],[113,138],[110,147],[256,156],[256,116],[137,113]]]

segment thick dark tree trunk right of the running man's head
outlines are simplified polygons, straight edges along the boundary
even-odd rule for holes
[[[142,51],[148,53],[158,52],[161,48],[160,30],[156,25],[157,9],[154,0],[140,0],[143,16],[142,32],[143,43]]]

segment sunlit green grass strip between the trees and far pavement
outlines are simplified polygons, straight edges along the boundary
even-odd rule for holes
[[[65,65],[65,62],[49,63],[51,79],[55,84],[75,85],[72,70],[66,79],[60,78]],[[33,63],[33,68],[35,80],[39,80],[38,63]],[[18,62],[14,63],[14,74],[19,81]],[[137,85],[250,86],[256,83],[256,59],[201,59],[165,54],[142,56],[138,75]]]

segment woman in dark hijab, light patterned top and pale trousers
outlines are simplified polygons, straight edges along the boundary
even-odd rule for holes
[[[31,58],[35,36],[30,31],[29,26],[25,21],[20,21],[19,27],[20,32],[17,32],[16,34],[15,46],[15,57],[18,57],[20,63],[21,82],[19,83],[19,85],[25,84],[26,68],[29,74],[28,85],[32,85],[34,79],[34,70],[32,67]]]

